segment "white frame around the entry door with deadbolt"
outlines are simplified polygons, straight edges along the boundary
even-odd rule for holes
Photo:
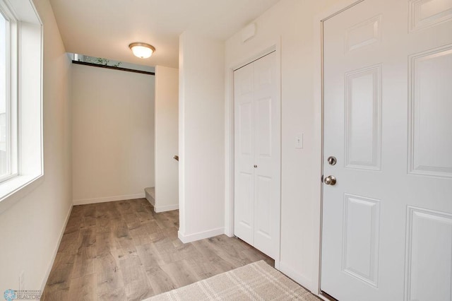
[[[337,4],[322,13],[319,13],[314,17],[314,146],[315,153],[318,154],[318,162],[320,163],[320,168],[318,174],[315,176],[318,179],[322,178],[323,175],[323,138],[324,138],[324,99],[323,99],[323,24],[326,20],[333,18],[334,16],[346,11],[348,8],[352,8],[353,6],[361,3],[364,0],[343,0],[340,4]],[[323,295],[321,292],[321,252],[322,252],[322,218],[323,218],[323,182],[319,181],[318,186],[316,187],[316,195],[315,198],[319,200],[319,202],[315,203],[313,206],[313,216],[315,218],[314,223],[317,225],[317,232],[314,233],[314,244],[318,246],[316,252],[314,252],[314,266],[313,271],[317,273],[314,275],[314,281],[317,283],[313,283],[313,287],[316,288],[317,295],[321,297],[323,300],[331,300],[326,295]]]

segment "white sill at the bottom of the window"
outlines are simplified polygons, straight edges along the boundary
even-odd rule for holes
[[[44,182],[44,175],[22,175],[0,184],[0,214]]]

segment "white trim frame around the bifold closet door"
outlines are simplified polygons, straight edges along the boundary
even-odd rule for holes
[[[226,116],[225,116],[225,235],[232,237],[234,236],[234,71],[242,68],[248,64],[251,64],[253,61],[261,59],[266,55],[275,52],[276,54],[276,76],[277,76],[277,88],[280,96],[280,105],[282,107],[282,98],[281,98],[281,42],[280,37],[277,40],[273,40],[270,42],[267,47],[262,47],[262,50],[259,52],[255,52],[246,57],[246,59],[241,59],[240,61],[234,62],[230,64],[230,66],[226,66],[226,81],[229,82],[229,86],[226,89]],[[227,101],[229,100],[229,102]],[[282,110],[280,110],[282,112]],[[281,118],[280,118],[281,119]],[[282,120],[282,119],[281,119]],[[282,134],[282,124],[280,122],[280,134]],[[281,144],[281,142],[280,142]],[[280,156],[282,158],[282,155]],[[280,176],[281,176],[281,158],[280,158]],[[281,177],[280,177],[281,178]],[[280,180],[281,187],[281,180]],[[281,189],[280,189],[281,190]],[[280,191],[280,200],[281,200],[281,191]],[[275,268],[279,270],[280,268],[280,230],[281,230],[281,204],[280,204],[280,212],[279,212],[279,233],[278,233],[278,241],[279,247],[277,255],[275,256]]]

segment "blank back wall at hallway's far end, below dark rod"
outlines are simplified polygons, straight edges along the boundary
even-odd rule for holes
[[[73,65],[73,202],[144,197],[154,186],[154,76]]]

